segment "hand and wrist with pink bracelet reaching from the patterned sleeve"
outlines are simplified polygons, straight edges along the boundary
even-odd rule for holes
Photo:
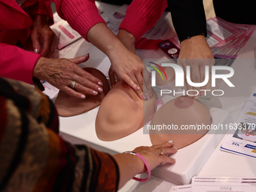
[[[175,154],[177,151],[177,148],[173,147],[172,141],[151,147],[139,147],[133,150],[133,152],[139,153],[144,157],[150,169],[154,169],[161,163],[174,164],[175,159],[167,157],[166,155]],[[120,172],[118,188],[123,187],[134,175],[147,171],[143,161],[133,154],[116,154],[114,155],[114,160],[117,161]]]

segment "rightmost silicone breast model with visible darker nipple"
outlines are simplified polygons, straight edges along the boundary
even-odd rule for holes
[[[188,96],[179,96],[166,102],[154,115],[150,125],[151,142],[153,145],[158,145],[172,140],[177,148],[184,148],[208,132],[208,130],[188,130],[189,127],[193,129],[196,125],[210,123],[211,114],[206,105]],[[158,131],[159,127],[162,127],[162,130]],[[185,127],[187,130],[181,130]]]

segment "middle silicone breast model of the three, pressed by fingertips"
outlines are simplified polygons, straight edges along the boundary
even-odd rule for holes
[[[136,132],[142,128],[143,119],[147,121],[154,114],[156,100],[154,90],[153,97],[143,101],[128,84],[118,82],[99,107],[96,117],[98,138],[109,142]]]

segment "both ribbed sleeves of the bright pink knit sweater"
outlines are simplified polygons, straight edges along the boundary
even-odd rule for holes
[[[87,40],[87,32],[96,23],[105,23],[94,0],[53,0],[59,17]],[[166,0],[134,0],[126,11],[120,29],[131,32],[136,39],[151,29],[167,7]],[[88,41],[88,40],[87,40]]]

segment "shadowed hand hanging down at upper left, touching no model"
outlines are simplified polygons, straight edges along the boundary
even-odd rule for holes
[[[44,15],[32,17],[34,26],[31,29],[32,45],[35,53],[50,57],[56,48],[56,35],[47,25],[47,18]],[[43,41],[43,49],[40,50],[40,41]]]

